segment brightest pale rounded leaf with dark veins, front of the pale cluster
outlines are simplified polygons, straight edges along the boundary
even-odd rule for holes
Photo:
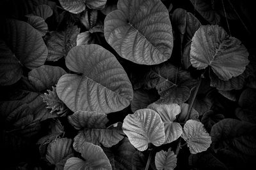
[[[154,110],[142,109],[124,119],[123,131],[131,144],[140,151],[147,150],[148,144],[160,146],[164,143],[164,124]]]

